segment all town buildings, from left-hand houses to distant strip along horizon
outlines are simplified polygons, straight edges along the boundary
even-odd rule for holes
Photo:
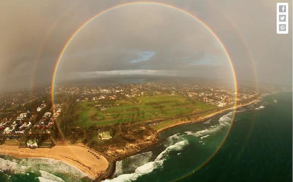
[[[235,101],[233,90],[212,86],[180,83],[137,83],[100,87],[56,86],[55,96],[71,96],[75,102],[94,102],[94,108],[105,111],[115,101],[138,97],[151,97],[169,94],[189,98],[194,101],[224,107]],[[255,98],[256,91],[242,90],[238,101]],[[0,134],[1,137],[20,139],[23,135],[51,134],[57,117],[62,112],[61,102],[51,105],[51,88],[45,87],[32,93],[23,90],[0,97]],[[42,100],[44,96],[46,99]],[[54,108],[54,110],[52,109]],[[109,131],[99,134],[99,139],[110,139]],[[29,146],[27,142],[27,146]],[[36,145],[36,143],[35,143]]]

